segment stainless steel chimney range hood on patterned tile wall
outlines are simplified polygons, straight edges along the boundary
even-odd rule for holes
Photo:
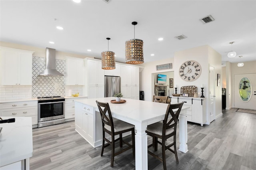
[[[55,49],[46,48],[46,69],[38,76],[64,76],[55,69]]]

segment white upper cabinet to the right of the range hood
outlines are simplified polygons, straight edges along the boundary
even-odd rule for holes
[[[67,57],[66,85],[84,85],[84,59]]]

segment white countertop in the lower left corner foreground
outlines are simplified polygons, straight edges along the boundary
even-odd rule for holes
[[[15,118],[15,122],[0,124],[0,167],[33,155],[32,118],[2,117],[10,118]]]

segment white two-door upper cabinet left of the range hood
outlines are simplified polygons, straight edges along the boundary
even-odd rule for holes
[[[1,47],[1,85],[32,85],[34,51]]]

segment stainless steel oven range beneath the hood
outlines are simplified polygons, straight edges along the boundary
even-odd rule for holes
[[[38,127],[65,122],[65,98],[38,97]]]

